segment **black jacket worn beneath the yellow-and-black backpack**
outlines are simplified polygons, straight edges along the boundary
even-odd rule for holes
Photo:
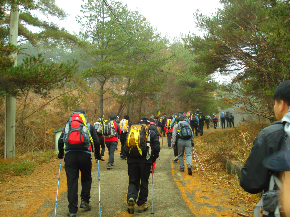
[[[151,143],[151,158],[146,159],[146,155],[142,157],[130,157],[127,155],[127,163],[152,163],[159,157],[160,142],[158,136],[153,131],[149,130]]]

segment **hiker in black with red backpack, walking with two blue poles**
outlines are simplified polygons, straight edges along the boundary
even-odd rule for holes
[[[73,129],[73,130],[72,130]],[[77,129],[77,130],[74,130]],[[78,134],[77,132],[81,132]],[[83,135],[84,139],[80,140]],[[66,180],[68,185],[68,212],[70,217],[76,217],[78,210],[78,179],[81,171],[81,204],[80,208],[91,209],[90,190],[92,185],[92,161],[90,152],[90,142],[93,140],[95,156],[98,160],[102,159],[100,154],[100,141],[93,125],[86,119],[85,111],[81,108],[75,110],[66,123],[58,139],[58,158],[63,159],[65,153]],[[64,150],[64,144],[66,149]]]

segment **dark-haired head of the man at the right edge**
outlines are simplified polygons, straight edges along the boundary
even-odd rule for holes
[[[276,119],[280,121],[287,113],[290,106],[290,80],[283,81],[276,88],[274,95],[274,113]]]

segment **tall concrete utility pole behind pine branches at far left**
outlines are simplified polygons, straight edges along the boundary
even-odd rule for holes
[[[10,11],[10,33],[9,43],[17,46],[19,23],[19,5],[11,6]],[[14,67],[17,65],[17,53],[11,54],[10,58],[14,59]],[[5,111],[5,146],[4,158],[15,157],[15,119],[16,119],[16,99],[6,93],[6,111]]]

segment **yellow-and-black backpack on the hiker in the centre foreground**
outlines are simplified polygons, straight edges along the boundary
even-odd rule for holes
[[[130,157],[142,157],[147,154],[147,143],[150,143],[149,129],[145,124],[133,124],[126,138],[124,151]],[[150,146],[150,144],[149,144]]]

